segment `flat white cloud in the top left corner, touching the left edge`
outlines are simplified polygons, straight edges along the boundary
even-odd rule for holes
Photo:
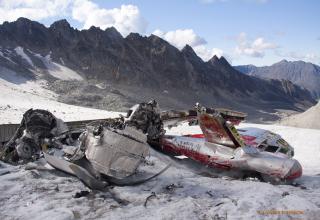
[[[64,15],[72,0],[1,0],[0,22],[15,21],[19,17],[41,20]]]

